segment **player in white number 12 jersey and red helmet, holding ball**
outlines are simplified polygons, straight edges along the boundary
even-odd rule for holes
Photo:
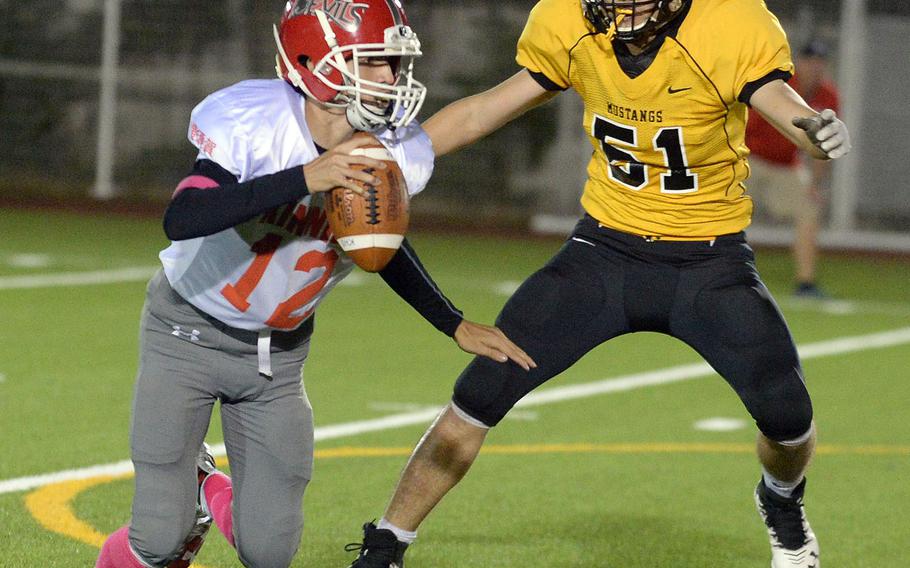
[[[364,144],[355,130],[387,146],[412,195],[432,173],[413,120],[420,43],[398,2],[289,2],[275,38],[279,79],[241,82],[193,110],[199,153],[165,213],[172,242],[141,323],[132,518],[97,568],[189,566],[213,521],[245,566],[290,564],[313,462],[301,381],[313,312],[353,269],[323,193],[378,182],[358,167],[382,162],[350,155]],[[407,240],[380,275],[465,351],[534,365],[497,328],[463,319]],[[203,443],[216,400],[232,478]]]

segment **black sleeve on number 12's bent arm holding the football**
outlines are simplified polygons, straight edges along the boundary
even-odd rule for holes
[[[300,166],[238,183],[215,162],[199,160],[190,175],[219,185],[187,187],[174,196],[164,212],[164,233],[172,241],[213,235],[309,193]]]

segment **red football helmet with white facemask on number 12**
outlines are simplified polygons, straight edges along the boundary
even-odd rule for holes
[[[423,104],[426,87],[412,76],[420,41],[398,0],[291,0],[275,41],[278,76],[323,104],[346,107],[358,130],[404,126]],[[387,59],[395,81],[361,77],[365,58]]]

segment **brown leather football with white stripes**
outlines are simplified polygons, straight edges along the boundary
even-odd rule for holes
[[[367,272],[378,272],[392,260],[404,240],[410,218],[408,189],[401,168],[372,134],[372,143],[355,148],[352,155],[365,155],[386,163],[386,169],[366,168],[382,180],[377,186],[360,184],[365,195],[335,188],[326,197],[329,227],[341,249]]]

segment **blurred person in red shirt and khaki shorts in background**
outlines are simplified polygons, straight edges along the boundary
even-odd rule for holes
[[[796,73],[789,84],[815,110],[830,108],[840,113],[837,87],[828,72],[829,53],[828,45],[821,40],[807,43],[797,56]],[[749,115],[746,145],[752,151],[746,185],[756,211],[774,222],[794,223],[794,295],[826,298],[817,282],[816,265],[831,164],[805,160],[796,146],[755,112]]]

